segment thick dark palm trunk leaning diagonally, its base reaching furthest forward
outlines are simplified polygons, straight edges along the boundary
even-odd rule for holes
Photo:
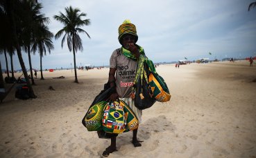
[[[12,1],[12,0],[8,0],[8,1],[6,1],[6,3],[7,3],[6,12],[8,13],[8,18],[10,19],[10,27],[11,27],[11,30],[12,30],[12,34],[11,35],[13,37],[14,46],[15,46],[15,48],[17,50],[17,55],[18,55],[18,58],[19,58],[20,66],[22,67],[22,72],[24,74],[24,77],[26,79],[26,83],[28,85],[29,97],[36,98],[35,93],[33,91],[33,88],[31,86],[31,82],[28,79],[28,73],[26,72],[26,67],[25,67],[24,61],[22,59],[22,50],[21,50],[21,48],[19,46],[19,41],[17,39],[16,23],[15,23],[15,19],[14,19],[13,6],[12,6],[13,3],[15,3],[15,2]]]

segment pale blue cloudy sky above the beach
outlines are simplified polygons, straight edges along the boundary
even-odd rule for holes
[[[39,0],[42,13],[49,17],[49,30],[56,34],[63,28],[53,15],[65,13],[72,6],[87,14],[89,26],[83,52],[76,52],[76,66],[108,66],[112,52],[120,48],[118,28],[130,19],[137,28],[146,56],[154,63],[196,60],[200,58],[223,59],[256,56],[256,8],[248,12],[252,0]],[[62,34],[63,37],[63,34]],[[42,59],[43,69],[74,67],[73,52],[67,41],[53,39],[54,50]],[[212,55],[210,55],[210,53]],[[22,52],[26,68],[28,55]],[[4,55],[0,55],[2,69],[6,69]],[[10,57],[8,56],[8,60]],[[17,55],[13,56],[15,70],[21,69]],[[40,69],[38,52],[32,55],[32,65]],[[10,68],[10,60],[9,60]]]

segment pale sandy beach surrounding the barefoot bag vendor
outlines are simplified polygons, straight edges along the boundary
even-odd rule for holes
[[[14,88],[0,103],[0,157],[101,157],[110,139],[88,132],[81,120],[108,70],[78,70],[80,83],[74,70],[44,72],[45,80],[37,72],[37,99],[15,99]],[[143,110],[142,147],[130,142],[133,132],[122,133],[109,157],[256,157],[256,65],[225,61],[156,70],[171,101]],[[60,76],[65,79],[53,79]]]

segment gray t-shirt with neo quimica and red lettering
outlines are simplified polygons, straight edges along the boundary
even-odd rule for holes
[[[121,98],[130,97],[137,70],[137,61],[133,61],[121,53],[121,48],[114,50],[110,57],[110,68],[117,69],[117,94]]]

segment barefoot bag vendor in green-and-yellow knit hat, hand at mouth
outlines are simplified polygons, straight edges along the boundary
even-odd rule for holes
[[[125,101],[135,113],[139,123],[142,121],[142,110],[135,107],[134,99],[130,98],[133,81],[137,70],[137,60],[141,55],[142,48],[135,44],[138,40],[137,30],[130,20],[125,20],[119,26],[119,43],[121,48],[114,50],[110,57],[110,72],[108,81],[110,86],[116,86],[116,92],[110,95],[111,101],[118,98]],[[117,151],[117,136],[111,137],[111,144],[103,152],[103,156],[108,157],[110,153]],[[133,146],[142,146],[137,139],[137,129],[133,130]]]

